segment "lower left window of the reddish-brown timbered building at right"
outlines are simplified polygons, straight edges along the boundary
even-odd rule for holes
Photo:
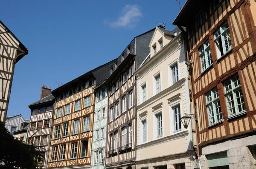
[[[223,117],[221,113],[221,104],[218,97],[217,87],[213,88],[208,93],[206,93],[205,98],[209,125],[218,123],[223,119]]]

